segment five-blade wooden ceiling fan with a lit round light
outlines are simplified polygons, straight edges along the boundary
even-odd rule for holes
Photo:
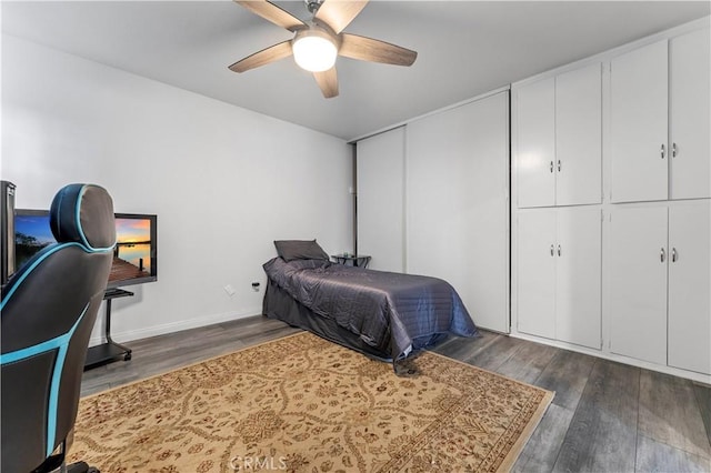
[[[308,23],[267,0],[234,0],[272,23],[294,33],[293,39],[277,43],[230,66],[234,72],[244,72],[294,56],[297,64],[313,72],[323,93],[330,99],[338,95],[336,57],[384,64],[412,66],[415,51],[372,38],[342,32],[368,3],[346,0],[304,0],[313,14]]]

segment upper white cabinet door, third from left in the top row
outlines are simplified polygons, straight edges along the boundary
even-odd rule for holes
[[[610,73],[611,199],[665,200],[667,40],[614,58]]]

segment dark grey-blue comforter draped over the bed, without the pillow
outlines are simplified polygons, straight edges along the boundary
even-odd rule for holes
[[[433,335],[477,333],[459,294],[441,279],[324,260],[274,258],[263,268],[271,281],[301,304],[369,345],[388,350],[392,360],[407,356],[419,348],[418,341]]]

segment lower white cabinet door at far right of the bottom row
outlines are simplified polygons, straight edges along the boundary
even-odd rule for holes
[[[711,374],[711,204],[669,209],[669,365]]]

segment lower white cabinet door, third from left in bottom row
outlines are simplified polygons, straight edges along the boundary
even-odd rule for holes
[[[610,350],[667,364],[667,207],[611,217]]]

